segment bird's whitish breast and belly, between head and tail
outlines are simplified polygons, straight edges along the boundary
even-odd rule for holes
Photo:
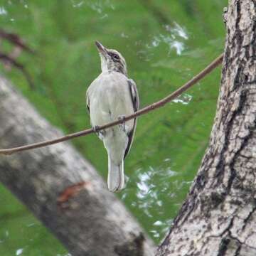
[[[117,120],[118,117],[134,113],[127,78],[120,73],[99,75],[87,90],[87,97],[93,127],[102,126]],[[117,125],[100,134],[110,158],[116,164],[124,158],[129,141],[127,134],[134,128],[134,120],[125,122],[125,129],[123,128]]]

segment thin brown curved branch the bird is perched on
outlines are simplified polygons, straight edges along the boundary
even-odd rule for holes
[[[167,97],[164,97],[162,100],[159,100],[158,102],[154,102],[153,104],[142,108],[142,110],[139,110],[139,111],[135,112],[134,114],[130,114],[129,116],[124,117],[124,119],[122,119],[122,120],[117,120],[117,121],[110,122],[108,124],[102,125],[101,127],[97,128],[97,132],[102,130],[102,129],[107,129],[107,128],[113,127],[114,125],[120,124],[122,122],[126,122],[130,119],[134,119],[135,117],[139,117],[142,114],[146,114],[148,112],[156,110],[159,107],[163,107],[164,105],[166,105],[166,103],[170,102],[171,100],[174,100],[176,97],[178,97],[183,92],[188,90],[188,88],[195,85],[196,82],[198,82],[199,80],[206,77],[206,75],[208,75],[212,70],[217,68],[218,65],[220,65],[220,63],[222,63],[222,61],[223,61],[223,54],[221,54],[218,58],[213,60],[213,62],[210,63],[210,65],[208,65],[204,70],[202,70],[201,73],[198,73],[198,75],[193,77],[191,80],[186,82],[185,85],[179,87],[178,90],[171,93]],[[18,147],[12,148],[12,149],[1,149],[0,154],[9,155],[9,154],[14,154],[18,151],[25,151],[25,150],[28,150],[28,149],[37,149],[37,148],[40,148],[40,147],[43,147],[43,146],[49,146],[49,145],[52,145],[52,144],[65,142],[65,141],[68,141],[69,139],[74,139],[76,137],[81,137],[81,136],[85,136],[85,135],[88,135],[88,134],[92,134],[94,132],[95,132],[94,129],[85,129],[83,131],[75,132],[73,134],[68,134],[68,135],[60,137],[58,139],[53,139],[53,140],[49,140],[49,141],[46,141],[46,142],[39,142],[39,143],[35,143],[35,144],[29,144],[29,145],[26,145],[26,146],[18,146]]]

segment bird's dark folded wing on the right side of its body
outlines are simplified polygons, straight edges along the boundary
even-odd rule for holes
[[[134,80],[132,80],[132,79],[128,80],[128,85],[129,85],[130,96],[132,98],[132,105],[134,108],[134,112],[137,112],[137,110],[139,110],[139,94],[137,91],[137,86],[136,86],[136,83],[134,82]],[[132,130],[127,134],[129,140],[128,140],[128,144],[127,144],[127,149],[125,150],[125,153],[124,153],[124,158],[125,158],[125,156],[127,156],[127,154],[129,153],[129,149],[132,146],[132,141],[134,138],[136,124],[137,124],[137,118],[134,118],[134,125],[132,127]]]

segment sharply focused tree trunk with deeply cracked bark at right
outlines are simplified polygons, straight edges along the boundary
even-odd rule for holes
[[[230,0],[210,145],[156,255],[256,255],[256,1]]]

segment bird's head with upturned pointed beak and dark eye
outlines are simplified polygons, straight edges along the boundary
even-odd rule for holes
[[[127,76],[127,65],[124,57],[117,50],[107,49],[98,41],[95,42],[100,53],[102,72],[117,71]]]

